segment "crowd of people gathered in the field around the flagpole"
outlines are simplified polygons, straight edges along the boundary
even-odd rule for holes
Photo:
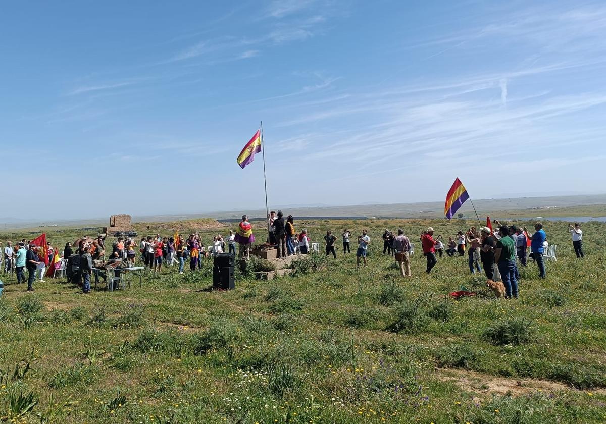
[[[438,257],[465,256],[467,251],[468,267],[471,274],[484,273],[488,280],[502,280],[505,286],[506,297],[518,297],[519,266],[526,267],[528,259],[533,260],[539,269],[539,277],[545,278],[545,261],[543,254],[548,248],[547,235],[543,230],[541,222],[534,225],[534,232],[530,234],[527,228],[516,227],[515,225],[505,225],[494,220],[498,227],[493,231],[488,227],[471,227],[463,233],[458,231],[454,236],[449,236],[445,243],[442,235],[434,237],[435,230],[428,227],[419,235],[422,252],[427,260],[425,272],[431,273],[438,263]],[[310,253],[312,245],[311,237],[306,228],[302,228],[298,233],[295,229],[292,215],[284,218],[282,211],[271,211],[267,217],[268,237],[267,244],[274,246],[277,250],[277,257],[287,257],[294,254]],[[581,225],[575,223],[568,225],[573,248],[578,258],[584,257],[582,247]],[[343,254],[351,253],[351,239],[353,238],[350,230],[343,230],[341,233]],[[530,255],[527,254],[528,237],[530,237]],[[326,256],[337,258],[335,243],[338,237],[328,230],[324,236],[324,246]],[[383,254],[395,257],[399,264],[402,277],[411,277],[410,256],[413,252],[413,243],[404,235],[404,230],[400,228],[397,234],[386,229],[382,234]],[[358,248],[356,254],[356,265],[367,265],[368,247],[371,245],[370,236],[367,230],[357,236]],[[81,267],[81,276],[84,293],[90,291],[90,275],[95,272],[99,276],[99,265],[108,263],[127,262],[129,265],[135,265],[137,257],[140,258],[142,265],[151,270],[161,272],[162,265],[178,267],[178,273],[184,273],[185,263],[189,262],[191,271],[202,267],[202,260],[219,253],[233,253],[236,255],[236,245],[239,245],[239,258],[249,259],[251,247],[255,243],[253,227],[248,220],[247,215],[242,216],[237,230],[229,231],[228,236],[221,234],[213,236],[210,246],[205,247],[202,237],[199,233],[191,233],[185,239],[182,234],[175,233],[172,237],[161,237],[156,234],[155,237],[141,237],[137,242],[133,237],[118,237],[112,243],[111,249],[105,248],[105,238],[99,236],[96,239],[82,237],[73,247],[72,243],[66,243],[62,252],[62,258],[69,259],[74,254],[81,256],[79,260]],[[0,245],[1,247],[1,245]],[[76,248],[76,251],[73,250]],[[4,272],[9,273],[15,268],[17,282],[27,280],[27,290],[32,291],[33,282],[36,279],[43,281],[45,275],[45,262],[50,262],[55,255],[51,243],[47,243],[45,249],[48,255],[48,261],[39,257],[41,247],[28,243],[22,239],[13,247],[13,243],[8,241],[4,247]],[[25,277],[25,270],[28,275]],[[105,274],[101,272],[105,279]]]

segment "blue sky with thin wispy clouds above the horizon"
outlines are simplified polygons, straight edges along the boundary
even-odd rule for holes
[[[275,208],[606,184],[602,1],[10,2],[0,39],[0,216],[260,208],[261,120]]]

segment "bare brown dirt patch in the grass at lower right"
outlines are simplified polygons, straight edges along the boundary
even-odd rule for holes
[[[575,390],[563,383],[537,379],[505,379],[504,377],[488,376],[475,371],[461,369],[438,369],[438,378],[442,381],[456,383],[465,391],[475,392],[484,396],[491,394],[509,394],[521,396],[537,391],[547,394],[564,390]],[[592,389],[591,393],[606,393],[606,389]]]

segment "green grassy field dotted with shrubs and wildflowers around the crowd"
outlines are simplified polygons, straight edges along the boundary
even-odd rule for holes
[[[207,262],[201,271],[164,268],[146,272],[142,286],[89,295],[64,279],[27,294],[0,274],[1,420],[606,421],[606,224],[584,225],[580,261],[565,224],[548,223],[558,262],[547,263],[545,280],[534,265],[522,269],[520,299],[508,301],[468,273],[467,257],[444,256],[424,273],[416,234],[432,225],[447,236],[471,221],[295,225],[315,241],[327,229],[368,228],[368,267],[356,269],[355,256],[338,250],[337,260],[301,260],[293,276],[273,281],[239,273],[236,290],[226,292],[207,291]],[[416,244],[412,279],[402,280],[381,254],[382,231],[398,226]],[[216,231],[203,231],[204,241]],[[58,246],[81,235],[47,233]],[[478,296],[445,297],[461,286]]]

